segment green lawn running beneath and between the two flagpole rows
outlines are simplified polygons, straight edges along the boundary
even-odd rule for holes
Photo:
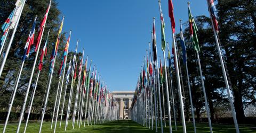
[[[27,127],[26,132],[38,132],[39,131],[39,122],[32,122],[29,123],[29,126]],[[166,123],[167,124],[167,123]],[[172,123],[174,126],[174,123]],[[22,124],[21,131],[23,132],[24,129],[24,123]],[[57,126],[57,132],[65,132],[64,131],[64,125],[65,123],[62,123],[62,127],[59,128],[59,125]],[[118,121],[112,121],[112,122],[106,122],[102,123],[101,125],[90,125],[90,126],[85,126],[78,128],[75,126],[75,129],[72,129],[71,127],[71,122],[69,122],[69,126],[67,128],[66,132],[114,132],[114,133],[126,133],[126,132],[155,132],[152,131],[151,129],[148,129],[146,127],[143,127],[139,125],[138,123],[135,123],[131,120],[118,120]],[[51,122],[44,122],[43,130],[42,132],[53,132],[53,129],[50,129]],[[210,132],[209,127],[207,123],[196,123],[197,126],[197,132]],[[227,132],[227,133],[233,133],[235,132],[235,127],[232,125],[212,125],[213,126],[213,132]],[[240,132],[256,132],[256,129],[250,128],[253,126],[239,126]],[[255,127],[255,126],[254,126]],[[10,123],[7,126],[6,132],[15,132],[17,130],[17,123]],[[3,124],[0,125],[0,132],[3,131]],[[158,132],[160,132],[161,129],[158,128]],[[169,132],[169,128],[166,127],[164,128],[164,132]],[[182,125],[179,122],[178,123],[178,131],[174,130],[173,127],[173,132],[183,132],[182,131]],[[194,132],[193,125],[192,123],[187,123],[187,132]]]

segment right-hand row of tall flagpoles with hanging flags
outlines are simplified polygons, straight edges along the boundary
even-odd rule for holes
[[[217,21],[217,15],[215,14],[215,6],[213,3],[213,0],[206,0],[207,1],[207,8],[209,9],[210,13],[210,18],[211,18],[211,23],[212,23],[212,28],[213,28],[213,33],[214,33],[214,39],[217,45],[217,49],[219,52],[219,58],[220,58],[220,64],[222,68],[222,73],[223,77],[225,79],[226,83],[226,88],[227,88],[227,94],[229,98],[229,103],[230,103],[230,109],[232,113],[232,117],[234,119],[234,124],[236,128],[236,132],[239,132],[237,120],[236,120],[236,113],[234,110],[234,104],[233,104],[233,97],[230,94],[229,90],[229,83],[227,79],[227,74],[226,74],[226,68],[223,65],[223,59],[222,59],[222,54],[219,46],[219,38],[218,38],[218,21]],[[177,40],[175,37],[175,19],[173,15],[173,4],[171,0],[168,0],[169,3],[169,16],[171,19],[171,28],[172,28],[172,54],[173,54],[173,60],[174,60],[174,68],[175,68],[175,73],[177,76],[177,89],[178,89],[178,96],[179,96],[179,103],[180,103],[180,114],[181,114],[181,121],[182,121],[182,128],[183,132],[187,132],[186,129],[186,121],[185,121],[185,114],[184,114],[184,104],[183,101],[185,100],[185,95],[182,95],[182,90],[181,90],[181,82],[182,82],[182,76],[181,74],[181,69],[180,69],[180,63],[179,63],[179,56],[178,56],[178,45],[177,45]],[[174,105],[174,96],[173,96],[173,84],[172,84],[172,70],[171,70],[171,55],[169,51],[169,45],[168,46],[168,57],[169,59],[169,69],[166,68],[166,60],[165,60],[165,33],[164,33],[164,28],[165,28],[165,23],[164,23],[164,17],[163,17],[163,12],[161,8],[161,1],[158,1],[159,4],[159,11],[160,11],[160,19],[161,19],[161,36],[162,36],[162,51],[163,51],[163,57],[164,57],[164,72],[165,72],[165,86],[163,85],[163,73],[162,73],[162,63],[160,60],[160,67],[158,67],[158,59],[157,59],[157,48],[156,48],[156,34],[155,34],[155,18],[153,21],[153,32],[152,32],[152,43],[153,43],[153,60],[151,60],[151,51],[149,47],[149,52],[150,54],[146,54],[147,58],[150,59],[150,61],[146,61],[145,58],[145,67],[141,69],[140,77],[138,79],[137,86],[135,88],[135,94],[134,94],[134,99],[132,103],[132,108],[131,108],[131,119],[140,123],[143,126],[146,126],[151,128],[153,130],[154,124],[153,124],[153,119],[155,120],[155,130],[157,130],[157,126],[159,126],[158,121],[161,122],[161,132],[163,132],[163,120],[164,120],[164,126],[165,125],[165,100],[164,100],[164,90],[165,88],[165,93],[166,93],[166,101],[167,101],[167,115],[169,119],[169,131],[172,132],[172,125],[171,125],[171,105],[173,105],[173,117],[174,117],[174,122],[175,122],[175,130],[177,130],[177,125],[176,125],[176,118],[175,118],[175,105]],[[202,83],[202,91],[204,94],[204,103],[205,103],[205,109],[206,109],[206,114],[208,118],[208,123],[209,123],[209,129],[210,132],[213,132],[212,130],[212,124],[211,124],[211,118],[210,118],[210,110],[209,110],[209,105],[207,102],[207,97],[206,97],[206,92],[205,92],[205,85],[204,85],[204,76],[202,73],[202,68],[201,68],[201,63],[200,63],[200,58],[199,58],[199,42],[197,39],[197,26],[194,20],[194,17],[191,14],[190,11],[190,3],[188,2],[188,13],[189,13],[189,33],[190,33],[190,43],[193,45],[196,53],[196,58],[197,58],[197,63],[199,67],[199,73],[201,77],[201,83]],[[181,48],[182,48],[182,57],[183,57],[183,63],[185,64],[186,67],[186,76],[187,76],[187,84],[188,84],[188,92],[189,92],[189,101],[190,101],[190,108],[191,108],[191,114],[193,118],[193,127],[194,127],[194,132],[196,132],[196,123],[195,123],[195,115],[194,115],[194,107],[193,107],[193,101],[192,101],[192,94],[191,94],[191,89],[190,89],[190,80],[189,80],[189,72],[188,72],[188,64],[187,64],[187,54],[186,54],[186,44],[184,41],[183,37],[183,30],[182,30],[182,23],[180,20],[180,43],[181,43]],[[150,44],[150,43],[149,43]],[[159,70],[161,73],[159,73]],[[154,72],[153,72],[154,71]],[[159,77],[160,75],[160,77]],[[168,75],[168,76],[167,76]],[[170,77],[168,79],[168,77]],[[171,85],[170,85],[171,84]],[[183,86],[183,83],[182,83]],[[161,90],[160,88],[162,87],[162,95],[161,95]],[[169,96],[169,87],[171,87],[171,97]],[[150,91],[149,91],[150,90]],[[150,92],[150,93],[149,93]],[[154,96],[153,96],[154,95]],[[162,96],[162,99],[161,99]],[[158,98],[158,101],[157,101]],[[171,99],[171,102],[170,102]],[[162,101],[161,101],[162,100]],[[162,103],[163,102],[163,103]],[[154,103],[154,108],[148,108],[147,103],[151,103],[153,105]],[[163,108],[161,106],[164,106]],[[159,106],[159,108],[158,108]],[[143,110],[143,111],[141,111]],[[163,110],[163,111],[162,111]],[[147,112],[154,112],[151,113],[151,116]],[[164,116],[162,116],[162,112],[164,113]],[[159,116],[158,116],[159,114]],[[150,122],[151,119],[151,126],[148,125],[147,121]]]

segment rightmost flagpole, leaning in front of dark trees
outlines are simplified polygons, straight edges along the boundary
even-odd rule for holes
[[[216,32],[216,29],[215,29],[214,24],[213,24],[212,14],[211,14],[210,7],[209,7],[210,3],[209,3],[208,0],[207,0],[207,4],[208,4],[208,10],[209,10],[210,18],[211,18],[211,22],[212,22],[214,39],[215,39],[215,42],[216,42],[216,45],[217,45],[217,49],[218,49],[218,53],[219,53],[220,65],[221,65],[221,68],[222,68],[222,73],[223,73],[223,77],[224,77],[224,80],[225,80],[226,89],[227,89],[227,93],[228,93],[229,105],[230,105],[230,108],[231,108],[232,117],[233,117],[235,128],[236,128],[236,133],[239,133],[239,127],[238,127],[238,123],[237,123],[237,119],[236,119],[236,111],[234,109],[234,104],[233,104],[233,96],[231,96],[231,93],[230,93],[230,90],[229,90],[227,73],[226,73],[226,69],[225,69],[224,63],[223,63],[223,58],[222,58],[222,54],[221,54],[221,51],[220,51],[219,39],[217,37],[217,32]]]

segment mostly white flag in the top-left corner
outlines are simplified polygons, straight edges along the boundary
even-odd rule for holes
[[[15,8],[14,8],[14,14],[13,14],[13,17],[12,19],[10,20],[10,29],[13,29],[16,22],[18,21],[18,17],[19,17],[19,14],[21,14],[21,8],[22,8],[22,5],[25,4],[25,0],[17,0],[17,2],[15,3]]]

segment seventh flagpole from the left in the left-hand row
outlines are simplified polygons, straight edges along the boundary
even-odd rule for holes
[[[76,73],[75,72],[75,67],[77,65],[77,61],[76,61],[77,47],[78,47],[78,40],[76,42],[76,53],[75,53],[75,55],[73,57],[72,79],[71,79],[71,87],[70,87],[70,92],[69,92],[68,110],[67,110],[67,116],[66,116],[65,131],[66,131],[67,127],[68,127],[68,118],[69,118],[70,104],[71,104],[71,101],[72,101],[74,73]],[[64,104],[63,104],[63,106],[64,106]]]

